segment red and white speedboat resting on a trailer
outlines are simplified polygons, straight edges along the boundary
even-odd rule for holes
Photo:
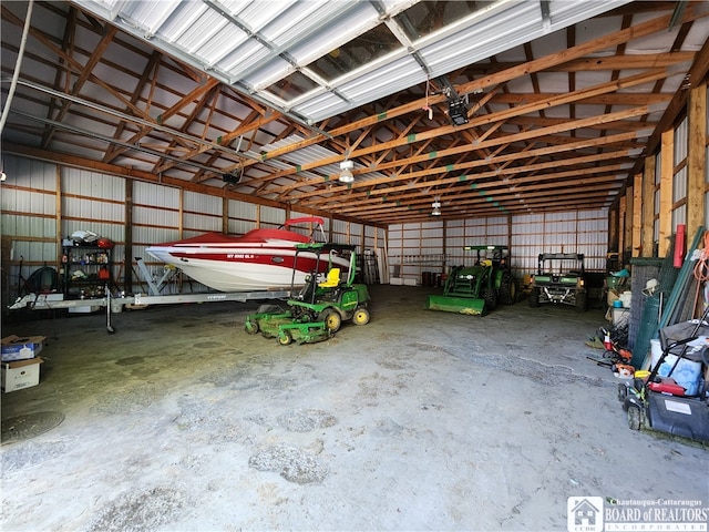
[[[312,227],[308,236],[294,231],[295,225]],[[331,259],[342,272],[349,269],[349,260],[322,254],[319,264],[315,253],[300,253],[294,270],[296,245],[316,242],[316,232],[321,234],[322,218],[317,216],[294,218],[279,228],[251,229],[243,236],[226,236],[219,233],[186,238],[178,242],[156,244],[145,249],[165,264],[182,269],[193,279],[219,291],[278,290],[302,286],[305,277],[319,267],[328,268]]]

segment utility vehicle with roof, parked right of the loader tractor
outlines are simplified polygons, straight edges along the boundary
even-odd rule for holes
[[[586,279],[582,253],[541,253],[532,277],[530,306],[561,304],[586,311]]]

